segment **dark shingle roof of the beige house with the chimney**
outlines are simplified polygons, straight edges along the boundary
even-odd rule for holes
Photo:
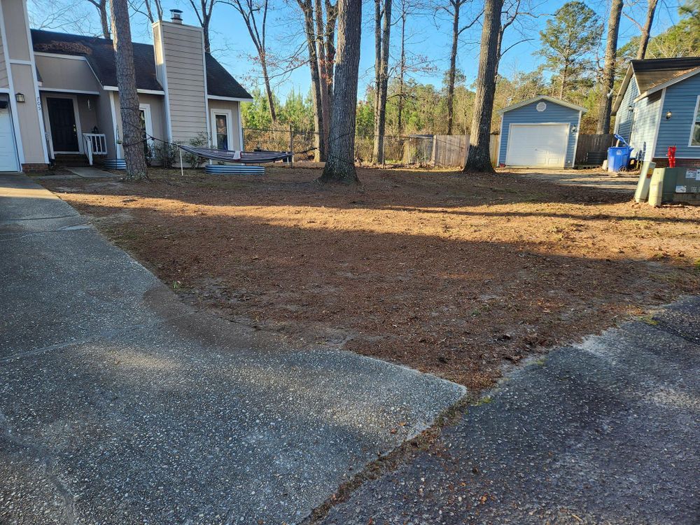
[[[50,52],[59,55],[80,55],[87,59],[97,80],[104,86],[117,85],[117,72],[114,62],[112,41],[95,36],[59,33],[31,29],[31,41],[35,52]],[[162,91],[163,87],[155,76],[153,45],[134,42],[134,69],[136,84],[140,90]],[[219,64],[216,58],[206,53],[207,94],[216,97],[251,99],[231,73]]]

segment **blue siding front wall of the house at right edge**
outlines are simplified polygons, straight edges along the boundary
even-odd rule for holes
[[[700,73],[666,87],[664,109],[661,111],[661,125],[654,157],[666,157],[668,146],[676,146],[678,158],[700,158],[700,147],[688,146],[693,124],[693,111],[700,95]],[[671,111],[670,120],[664,115]]]

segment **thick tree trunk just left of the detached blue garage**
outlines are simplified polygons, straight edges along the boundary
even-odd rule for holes
[[[496,93],[500,11],[502,9],[503,0],[484,1],[484,26],[479,52],[477,92],[474,97],[474,114],[469,133],[469,152],[463,169],[465,172],[493,172],[489,144],[491,142],[493,97]]]

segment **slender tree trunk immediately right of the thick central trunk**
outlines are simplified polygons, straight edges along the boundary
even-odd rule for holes
[[[372,157],[377,161],[377,164],[384,164],[384,130],[386,128],[386,90],[388,86],[389,69],[391,1],[392,0],[374,0],[374,78],[376,94],[374,98],[374,149],[372,151]],[[384,2],[384,7],[380,8],[382,2]]]

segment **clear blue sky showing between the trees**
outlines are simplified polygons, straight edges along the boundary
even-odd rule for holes
[[[46,6],[57,5],[52,0],[48,0],[48,4],[41,4],[47,0],[29,0],[29,10],[34,11],[34,20],[42,20],[41,13],[45,13]],[[60,1],[60,0],[59,0]],[[68,0],[66,0],[68,1]],[[84,1],[84,0],[82,0]],[[394,0],[395,14],[398,14],[398,1]],[[524,19],[524,26],[521,30],[510,29],[506,34],[504,48],[520,41],[524,38],[531,38],[531,41],[519,43],[503,58],[500,66],[500,73],[505,76],[515,71],[532,71],[540,63],[540,59],[533,55],[539,46],[538,31],[545,25],[549,15],[561,7],[563,1],[554,0],[531,0],[533,3],[533,12],[538,16],[536,18]],[[92,8],[90,4],[85,2],[87,9],[85,14],[88,18],[92,17]],[[269,34],[268,46],[272,52],[285,52],[293,48],[294,43],[299,43],[297,32],[300,30],[300,19],[298,8],[295,0],[270,0],[272,12],[269,15]],[[587,4],[596,10],[601,15],[603,20],[608,17],[609,1],[605,0],[590,0]],[[643,21],[646,6],[642,5],[626,8],[625,12],[636,18],[639,22]],[[360,57],[360,96],[365,92],[365,87],[372,81],[374,67],[374,35],[372,32],[373,22],[370,20],[373,14],[372,1],[365,0],[364,17],[365,25],[363,27],[363,42],[362,52]],[[421,3],[427,5],[427,3]],[[475,3],[475,5],[479,5]],[[196,24],[197,19],[190,8],[189,3],[182,0],[165,0],[164,7],[167,10],[170,8],[180,8],[184,11],[183,19],[185,23]],[[43,8],[43,11],[42,11]],[[652,34],[658,34],[673,24],[677,19],[676,11],[678,3],[661,4],[657,8],[657,18],[654,22]],[[45,15],[44,15],[45,16]],[[169,13],[166,16],[169,18]],[[251,44],[248,31],[244,26],[238,13],[226,5],[218,5],[214,8],[213,22],[211,25],[211,41],[214,55],[220,62],[228,67],[229,71],[246,87],[253,85],[260,80],[259,71],[251,65],[248,55],[254,54],[255,49]],[[97,17],[92,21],[92,25],[81,23],[80,27],[83,31],[90,31],[90,27],[97,28]],[[410,55],[414,57],[427,57],[433,70],[416,71],[412,76],[421,83],[433,83],[440,85],[444,71],[449,64],[449,46],[451,41],[450,35],[451,21],[447,20],[444,15],[435,16],[434,11],[425,8],[423,13],[413,15],[409,18],[407,25],[407,34],[410,35],[407,49]],[[66,27],[67,31],[75,31],[71,27]],[[93,29],[94,30],[94,29]],[[392,54],[398,57],[398,42],[399,42],[399,27],[393,27]],[[134,15],[132,18],[132,33],[134,40],[140,42],[151,41],[150,27],[146,22],[146,18],[141,15]],[[463,35],[460,52],[458,53],[458,67],[465,73],[467,83],[470,84],[475,80],[477,61],[479,57],[479,48],[475,43],[479,39],[480,28],[475,27],[472,32],[466,32]],[[638,34],[638,28],[628,20],[622,19],[620,30],[620,45],[624,44],[629,38]],[[307,92],[309,89],[309,70],[307,66],[303,66],[296,71],[293,71],[287,77],[276,81],[275,91],[282,99],[290,90]]]

